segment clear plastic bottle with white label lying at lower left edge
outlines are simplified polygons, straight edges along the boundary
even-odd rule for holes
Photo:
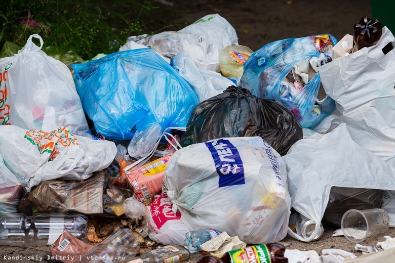
[[[4,214],[0,217],[0,245],[52,245],[65,229],[77,238],[86,238],[88,217],[61,213],[37,213],[32,216],[23,213]]]

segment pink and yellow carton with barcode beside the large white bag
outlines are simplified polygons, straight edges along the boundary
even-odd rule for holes
[[[141,202],[162,190],[166,165],[172,154],[165,155],[133,170],[125,170],[129,185]]]

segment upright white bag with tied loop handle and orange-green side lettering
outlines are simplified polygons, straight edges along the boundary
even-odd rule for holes
[[[18,54],[0,59],[0,124],[35,130],[65,126],[72,133],[89,130],[70,70],[41,51],[43,43],[33,34]]]

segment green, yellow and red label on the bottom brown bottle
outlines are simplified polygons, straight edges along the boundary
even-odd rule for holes
[[[232,263],[271,263],[266,245],[250,246],[228,252]]]

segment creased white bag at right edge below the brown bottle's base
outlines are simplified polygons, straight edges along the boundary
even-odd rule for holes
[[[335,100],[353,141],[395,167],[395,38],[388,28],[378,45],[320,67],[321,82]]]

